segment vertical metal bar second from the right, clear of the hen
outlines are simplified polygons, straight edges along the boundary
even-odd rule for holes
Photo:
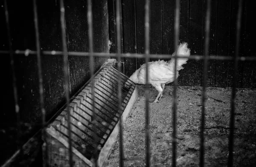
[[[209,52],[209,35],[210,35],[210,16],[211,1],[207,0],[207,9],[205,17],[205,40],[204,40],[204,73],[203,73],[203,92],[202,92],[202,115],[201,115],[201,143],[200,143],[200,167],[204,167],[204,115],[206,102],[206,86],[207,86],[207,68],[208,68],[208,52]]]

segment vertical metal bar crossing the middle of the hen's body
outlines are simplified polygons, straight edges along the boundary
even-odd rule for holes
[[[146,147],[146,167],[150,167],[150,120],[149,120],[149,84],[148,84],[148,61],[149,61],[149,0],[145,0],[145,62],[146,62],[146,127],[145,127],[145,147]]]

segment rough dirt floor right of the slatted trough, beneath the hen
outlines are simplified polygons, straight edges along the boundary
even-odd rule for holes
[[[125,167],[145,166],[145,86],[123,128]],[[172,164],[172,86],[166,86],[160,103],[149,104],[151,166]],[[200,157],[202,87],[178,87],[177,166],[198,166]],[[150,88],[150,101],[157,91]],[[227,166],[231,88],[208,88],[205,116],[205,165]],[[256,89],[237,89],[234,137],[234,166],[256,167]],[[119,166],[119,141],[105,167]]]

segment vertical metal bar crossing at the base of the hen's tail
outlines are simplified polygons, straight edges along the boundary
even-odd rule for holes
[[[177,49],[179,42],[180,34],[180,0],[176,0],[176,9],[175,9],[175,80],[174,80],[174,90],[173,90],[173,132],[172,132],[172,166],[176,167],[176,147],[177,147],[177,138],[176,138],[176,112],[177,112]]]

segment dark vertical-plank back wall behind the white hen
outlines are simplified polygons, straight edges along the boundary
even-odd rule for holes
[[[113,3],[113,0],[109,0]],[[144,4],[145,0],[122,0],[122,51],[144,53]],[[256,32],[253,20],[255,1],[243,0],[239,56],[256,56]],[[115,45],[114,10],[110,9],[111,41]],[[205,0],[180,0],[180,42],[189,43],[191,55],[204,55]],[[211,1],[211,29],[209,54],[234,56],[236,40],[237,0]],[[175,0],[150,0],[150,52],[174,52]],[[111,47],[111,52],[115,48]],[[161,59],[161,56],[159,55]],[[158,60],[158,59],[152,59]],[[126,75],[130,76],[145,63],[139,58],[122,58]],[[180,70],[179,86],[202,86],[203,61],[189,60]],[[209,60],[208,86],[232,86],[233,61]],[[239,62],[238,87],[256,87],[256,62]]]

